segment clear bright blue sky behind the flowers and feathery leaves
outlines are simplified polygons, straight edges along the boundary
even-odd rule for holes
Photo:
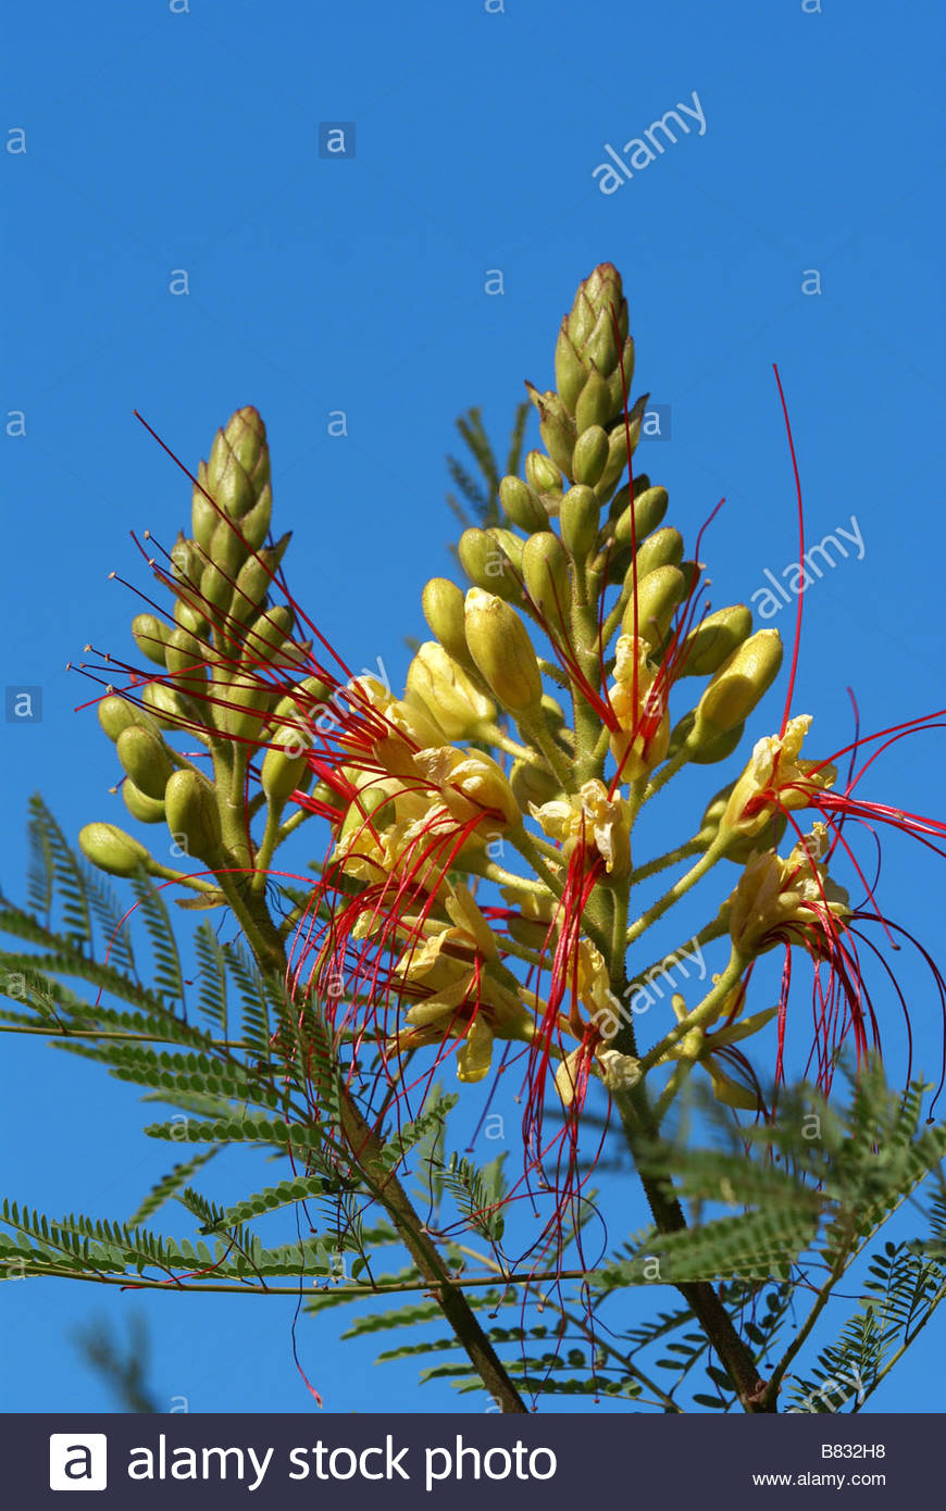
[[[774,361],[810,538],[855,521],[863,559],[852,550],[804,603],[795,707],[818,715],[819,749],[849,737],[846,686],[866,730],[944,701],[938,6],[101,0],[17,8],[6,33],[0,654],[5,688],[42,691],[39,722],[5,724],[12,896],[30,790],[73,836],[122,822],[110,751],[73,712],[86,692],[63,668],[86,642],[128,644],[136,610],[106,580],[144,585],[128,532],[169,544],[187,520],[187,485],[131,411],[193,467],[236,406],[260,408],[296,595],[351,665],[381,656],[397,680],[403,636],[423,633],[420,588],[449,567],[453,420],[481,403],[505,437],[523,379],[552,385],[558,323],[601,260],[624,273],[635,391],[671,411],[641,464],[691,541],[727,499],[704,542],[713,600],[748,597],[796,556]],[[694,121],[603,193],[606,144],[620,151],[694,92],[703,133]],[[320,122],[355,124],[354,159],[319,156]],[[189,292],[174,293],[181,270]],[[503,292],[488,293],[497,270]],[[332,437],[340,409],[348,434]],[[783,635],[790,612],[772,620]],[[941,769],[926,734],[870,792],[935,813]],[[892,914],[935,944],[935,860],[892,846],[883,879]],[[932,1073],[919,973],[914,1000]],[[138,1133],[136,1094],[39,1043],[6,1040],[5,1061],[14,1195],[130,1210],[166,1163]],[[6,1410],[107,1408],[68,1333],[127,1304],[5,1287]],[[280,1302],[142,1310],[162,1399],[307,1408]],[[339,1351],[332,1333],[328,1316],[304,1348],[310,1375],[334,1383],[329,1408],[390,1407],[410,1373],[372,1369],[370,1348]],[[940,1354],[923,1339],[875,1405],[935,1408]],[[453,1398],[429,1387],[417,1404]]]

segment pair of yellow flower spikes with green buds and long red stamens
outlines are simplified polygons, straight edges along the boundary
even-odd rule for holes
[[[694,837],[632,855],[642,807],[685,766],[733,756],[783,659],[778,632],[754,632],[745,604],[712,610],[700,539],[688,559],[663,524],[666,490],[635,471],[633,363],[621,280],[603,264],[562,320],[556,387],[529,387],[543,447],[502,479],[503,523],[461,536],[464,586],[434,577],[423,591],[432,638],[400,697],[352,674],[290,594],[287,538],[269,535],[263,422],[237,411],[193,477],[192,535],[163,558],[142,544],[174,600],[171,620],[148,600],[133,623],[156,671],[107,657],[98,704],[128,814],[166,822],[201,866],[166,867],[113,823],[82,834],[104,870],[177,879],[228,905],[266,949],[275,852],[320,819],[325,858],[277,931],[299,1011],[317,1000],[351,1074],[385,1094],[407,1094],[416,1056],[429,1083],[431,1053],[434,1064],[455,1053],[461,1083],[484,1082],[502,1043],[499,1065],[518,1064],[526,1082],[526,1165],[544,1168],[564,1139],[567,1179],[594,1083],[656,1126],[698,1068],[719,1100],[765,1115],[772,1056],[754,1064],[747,1046],[775,1018],[781,1073],[799,952],[828,1085],[848,1032],[858,1047],[876,1038],[860,928],[893,929],[830,875],[840,854],[873,907],[845,825],[893,823],[928,845],[944,833],[855,795],[866,769],[855,757],[870,742],[840,752],[843,789],[837,756],[802,759],[812,719],[790,715],[789,689],[781,728],[756,740]],[[876,749],[922,727],[884,731]],[[686,858],[689,870],[638,910],[638,888]],[[623,1011],[642,937],[722,860],[740,876],[713,899],[704,937],[728,941],[728,959],[703,1000],[674,996],[644,1047]],[[780,1000],[748,1012],[754,964],[775,947]]]

